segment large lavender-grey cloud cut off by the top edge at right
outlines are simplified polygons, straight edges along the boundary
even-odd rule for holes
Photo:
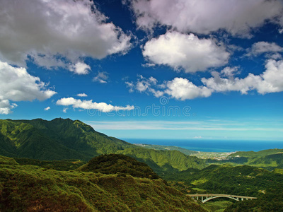
[[[226,30],[231,35],[242,37],[250,36],[250,28],[262,25],[265,20],[276,21],[278,17],[282,17],[283,8],[280,1],[265,0],[137,0],[129,2],[137,18],[137,25],[144,30],[152,30],[159,24],[172,26],[180,32],[209,34],[217,30]]]

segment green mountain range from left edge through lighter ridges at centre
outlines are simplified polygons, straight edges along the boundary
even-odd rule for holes
[[[71,119],[0,120],[0,154],[37,160],[84,160],[120,153],[145,162],[156,171],[202,168],[203,160],[179,151],[156,151],[95,131]]]

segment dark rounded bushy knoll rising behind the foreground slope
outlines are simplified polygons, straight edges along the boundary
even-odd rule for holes
[[[158,175],[145,163],[141,163],[127,155],[100,155],[91,159],[86,165],[79,168],[84,172],[100,172],[103,174],[119,174],[119,176],[132,175],[133,177],[146,177],[158,179]]]

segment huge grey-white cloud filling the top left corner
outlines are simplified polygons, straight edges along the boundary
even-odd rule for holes
[[[25,66],[30,56],[47,69],[75,64],[76,73],[87,66],[81,57],[102,59],[124,54],[130,36],[100,13],[91,1],[0,1],[0,59]]]

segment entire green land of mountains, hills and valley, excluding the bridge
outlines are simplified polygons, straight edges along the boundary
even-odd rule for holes
[[[134,145],[71,119],[0,120],[0,131],[1,211],[283,208],[282,149],[208,153]],[[202,204],[187,194],[258,199]]]

